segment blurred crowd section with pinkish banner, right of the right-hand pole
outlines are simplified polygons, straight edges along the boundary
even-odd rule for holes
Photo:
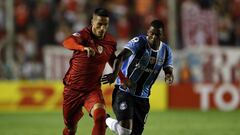
[[[179,44],[240,47],[239,0],[178,1]]]

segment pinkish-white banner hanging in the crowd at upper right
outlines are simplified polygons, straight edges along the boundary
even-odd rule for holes
[[[217,45],[214,10],[206,7],[202,9],[196,0],[184,0],[181,5],[181,17],[185,47]]]

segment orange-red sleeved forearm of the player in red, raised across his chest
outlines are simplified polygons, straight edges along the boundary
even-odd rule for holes
[[[76,42],[73,36],[66,38],[63,41],[63,46],[69,50],[79,50],[84,51],[84,46]]]

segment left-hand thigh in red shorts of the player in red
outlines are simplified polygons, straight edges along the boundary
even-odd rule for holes
[[[82,117],[84,93],[65,87],[63,92],[63,116],[67,126],[74,126]]]

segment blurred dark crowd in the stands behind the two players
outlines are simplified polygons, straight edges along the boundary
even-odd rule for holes
[[[0,79],[43,79],[42,48],[61,46],[63,39],[90,24],[95,8],[111,12],[109,32],[121,47],[135,35],[143,34],[154,18],[165,24],[168,35],[167,0],[14,0],[14,67],[7,64],[4,39],[6,36],[6,6],[0,2]],[[217,43],[240,47],[240,0],[176,0],[177,38],[175,49],[184,49],[181,7],[189,5],[211,10],[216,15]],[[190,3],[190,4],[188,4]],[[193,9],[193,8],[192,8]],[[202,20],[204,21],[204,20]],[[201,39],[201,38],[200,38]]]

